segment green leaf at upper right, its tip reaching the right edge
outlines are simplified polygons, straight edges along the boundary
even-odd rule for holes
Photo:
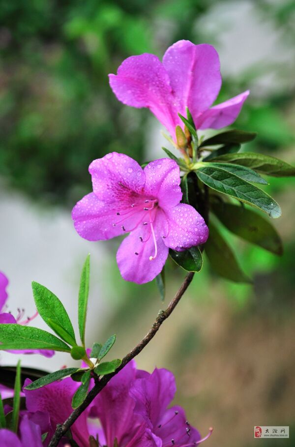
[[[295,175],[295,168],[285,161],[256,152],[225,154],[215,158],[214,161],[235,163],[273,177],[293,177]]]

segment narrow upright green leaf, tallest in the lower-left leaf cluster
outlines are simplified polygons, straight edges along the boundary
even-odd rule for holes
[[[83,346],[85,346],[85,327],[87,303],[89,295],[90,255],[87,256],[81,273],[79,299],[78,299],[78,325]]]

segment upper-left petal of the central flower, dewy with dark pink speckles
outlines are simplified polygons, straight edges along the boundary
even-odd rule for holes
[[[92,161],[89,173],[93,192],[98,199],[108,203],[129,203],[130,196],[141,193],[145,184],[141,166],[123,153],[111,152]]]

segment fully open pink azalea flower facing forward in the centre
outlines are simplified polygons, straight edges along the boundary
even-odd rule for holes
[[[162,270],[169,248],[177,251],[206,242],[208,228],[190,205],[179,203],[179,167],[174,160],[152,161],[142,169],[117,152],[89,166],[93,192],[72,211],[75,229],[88,240],[125,233],[117,253],[127,281],[143,284]]]

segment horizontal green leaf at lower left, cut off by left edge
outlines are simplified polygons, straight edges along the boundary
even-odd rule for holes
[[[46,330],[18,324],[2,324],[0,327],[0,350],[52,349],[70,352],[71,349],[55,335]]]

